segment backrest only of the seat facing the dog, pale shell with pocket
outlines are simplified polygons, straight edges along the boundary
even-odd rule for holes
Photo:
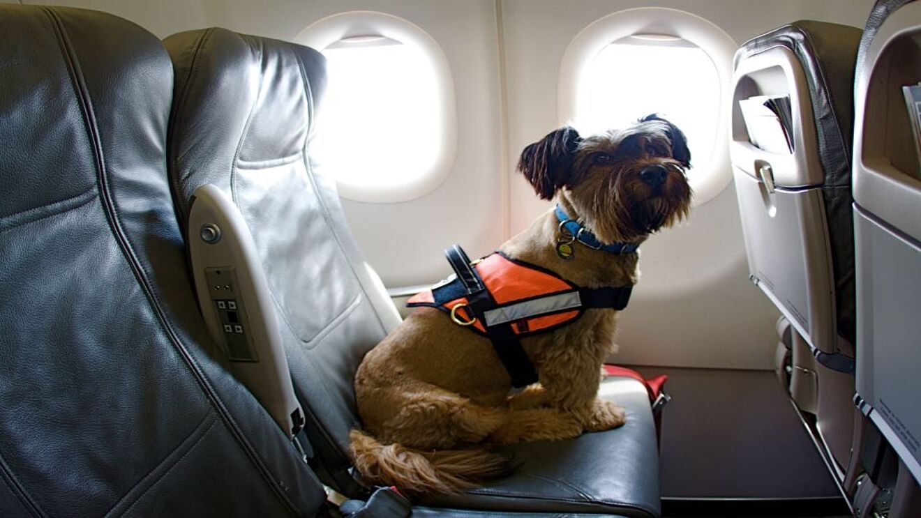
[[[735,56],[730,148],[752,279],[813,348],[849,357],[855,341],[852,86],[859,40],[853,27],[798,21],[742,44]],[[790,99],[792,153],[767,153],[749,143],[739,101],[760,95]]]

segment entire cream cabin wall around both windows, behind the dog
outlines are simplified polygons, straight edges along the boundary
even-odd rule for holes
[[[25,2],[31,3],[31,2]],[[872,0],[74,0],[130,19],[159,37],[220,26],[292,40],[321,17],[374,10],[403,17],[441,45],[454,78],[458,153],[448,179],[414,201],[344,201],[368,262],[388,287],[435,282],[449,272],[441,250],[461,243],[488,253],[550,204],[515,174],[520,150],[561,122],[559,65],[577,33],[636,6],[705,17],[740,43],[786,22],[822,19],[857,27]],[[663,78],[668,71],[663,71]],[[624,80],[634,78],[624,71]],[[663,79],[664,80],[664,79]],[[670,80],[680,80],[670,79]],[[637,114],[642,115],[642,114]],[[373,138],[362,135],[361,138]],[[406,153],[413,153],[406,135]],[[356,148],[360,148],[360,140]],[[772,368],[777,312],[748,280],[731,185],[690,221],[643,246],[643,278],[621,318],[621,363]]]

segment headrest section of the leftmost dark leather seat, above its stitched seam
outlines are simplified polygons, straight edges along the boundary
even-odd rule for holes
[[[172,68],[153,34],[95,11],[7,5],[0,34],[0,75],[16,78],[0,88],[0,191],[16,193],[0,197],[0,220],[163,177]]]

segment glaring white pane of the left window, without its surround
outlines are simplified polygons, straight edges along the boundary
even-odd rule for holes
[[[347,39],[323,51],[329,86],[311,153],[341,184],[398,188],[436,166],[440,90],[434,67],[414,45]]]

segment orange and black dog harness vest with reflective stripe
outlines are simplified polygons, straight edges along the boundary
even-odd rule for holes
[[[582,288],[553,271],[495,252],[471,262],[461,247],[445,250],[455,273],[406,305],[436,307],[493,342],[513,386],[537,381],[519,338],[572,323],[585,310],[621,310],[632,285]]]

